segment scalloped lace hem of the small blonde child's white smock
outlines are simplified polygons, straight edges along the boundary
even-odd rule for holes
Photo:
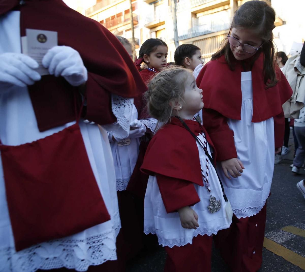
[[[231,221],[232,222],[232,221]],[[231,224],[230,222],[230,224]],[[212,234],[217,234],[218,231],[226,229],[230,227],[230,224],[225,224],[225,225],[217,225],[214,229],[204,229],[204,228],[197,228],[194,232],[193,235],[189,238],[184,238],[184,237],[179,237],[177,239],[164,239],[163,237],[158,237],[158,243],[159,245],[162,246],[168,246],[170,248],[174,246],[184,246],[187,244],[192,244],[192,240],[194,237],[197,237],[197,235],[208,235],[211,236]],[[156,234],[156,229],[154,227],[144,227],[144,233],[145,234]]]

